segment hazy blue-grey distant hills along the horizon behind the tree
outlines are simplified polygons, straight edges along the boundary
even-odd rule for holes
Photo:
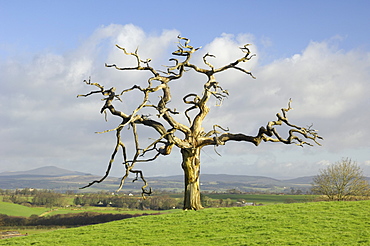
[[[37,168],[22,172],[0,173],[0,189],[53,189],[56,191],[74,190],[100,179],[101,176],[70,171],[53,166]],[[131,179],[132,180],[132,179]],[[227,190],[266,191],[266,192],[290,192],[295,190],[307,190],[310,187],[312,177],[303,177],[292,180],[278,180],[262,176],[246,175],[223,175],[223,174],[202,174],[201,189],[209,192],[223,192]],[[149,185],[154,190],[167,190],[181,192],[183,190],[183,176],[169,177],[147,177]],[[86,192],[99,190],[114,191],[118,188],[120,178],[108,177],[105,182],[96,184],[92,188],[85,189]],[[125,183],[124,192],[140,192],[141,182]]]

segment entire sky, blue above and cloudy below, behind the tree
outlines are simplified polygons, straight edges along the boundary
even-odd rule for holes
[[[255,135],[292,98],[290,122],[313,124],[324,138],[322,146],[304,148],[228,142],[216,148],[221,156],[206,147],[202,173],[287,179],[316,175],[348,157],[370,176],[369,9],[366,0],[0,0],[0,172],[57,166],[103,175],[115,134],[95,132],[115,128],[119,120],[104,120],[102,96],[76,97],[94,89],[83,80],[119,90],[145,84],[148,73],[104,67],[135,65],[115,44],[131,52],[139,47],[140,57],[161,70],[171,65],[180,34],[202,47],[193,57],[199,66],[207,52],[216,56],[215,66],[235,61],[246,43],[256,54],[243,64],[256,79],[237,70],[217,77],[230,96],[221,107],[210,102],[206,130],[218,124]],[[192,72],[176,81],[173,107],[183,107],[185,91],[201,93],[204,82]],[[135,96],[127,95],[118,104],[122,110],[135,106]],[[156,137],[148,129],[142,135],[143,141]],[[116,159],[111,176],[124,174],[121,162]],[[174,149],[136,167],[148,177],[168,176],[181,175],[180,164]]]

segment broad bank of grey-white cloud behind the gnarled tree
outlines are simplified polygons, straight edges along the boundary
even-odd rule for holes
[[[133,84],[145,85],[150,75],[147,72],[104,67],[104,63],[121,67],[135,65],[133,57],[125,56],[114,45],[126,47],[129,52],[138,47],[143,60],[151,58],[153,66],[164,70],[161,65],[170,64],[168,59],[176,49],[179,33],[164,30],[151,35],[134,25],[112,24],[97,28],[79,47],[64,54],[45,53],[24,61],[9,58],[1,62],[0,138],[4,147],[0,150],[0,172],[58,165],[103,173],[114,145],[114,134],[94,132],[114,128],[117,120],[109,117],[105,122],[99,114],[100,96],[76,98],[77,94],[94,89],[82,81],[91,76],[92,81],[118,90]],[[237,70],[217,77],[221,86],[229,90],[230,97],[221,107],[215,106],[215,102],[210,104],[205,127],[219,124],[229,127],[231,132],[254,135],[261,125],[274,120],[275,114],[292,98],[294,110],[289,112],[290,120],[303,126],[314,123],[314,128],[325,138],[323,147],[302,149],[266,143],[256,148],[248,143],[231,143],[217,148],[223,157],[212,148],[205,148],[203,172],[237,171],[273,177],[313,175],[327,161],[340,160],[359,148],[358,162],[368,165],[370,54],[340,50],[338,41],[327,40],[311,42],[302,53],[262,66],[258,53],[263,47],[255,42],[251,34],[222,34],[194,55],[199,66],[205,66],[202,62],[205,53],[215,55],[209,61],[217,67],[240,58],[243,53],[239,47],[246,43],[252,43],[251,50],[257,54],[241,64],[257,79]],[[204,79],[188,72],[176,81],[172,90],[173,107],[183,109],[178,104],[184,91],[200,92]],[[135,100],[136,94],[127,94],[121,107],[132,110]],[[174,157],[144,165],[143,169],[149,176],[180,174],[178,158],[176,152]]]

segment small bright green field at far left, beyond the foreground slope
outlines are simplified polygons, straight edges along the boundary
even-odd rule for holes
[[[40,215],[48,210],[49,209],[45,207],[26,207],[10,202],[0,202],[0,214],[10,216],[29,217],[32,214]]]

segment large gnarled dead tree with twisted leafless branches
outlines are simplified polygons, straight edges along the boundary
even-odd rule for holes
[[[257,135],[245,135],[242,133],[230,133],[229,129],[223,128],[219,125],[214,125],[213,129],[204,131],[202,124],[209,113],[207,103],[210,98],[214,97],[217,103],[221,103],[229,93],[220,83],[216,80],[216,74],[234,69],[255,78],[250,71],[239,67],[238,65],[243,62],[249,61],[254,55],[251,54],[249,44],[244,45],[240,48],[244,55],[229,64],[222,67],[216,68],[209,61],[208,58],[214,57],[211,54],[205,54],[203,56],[203,62],[207,69],[200,68],[191,63],[191,58],[194,52],[199,48],[194,48],[189,44],[190,40],[184,37],[178,36],[179,44],[177,50],[172,53],[174,57],[169,61],[173,62],[173,65],[166,66],[166,71],[156,70],[150,65],[151,59],[142,60],[139,57],[138,49],[135,52],[127,52],[125,48],[118,45],[117,48],[123,51],[125,55],[132,56],[136,61],[136,65],[133,67],[119,67],[116,64],[105,65],[106,67],[112,67],[117,70],[138,70],[138,71],[149,71],[152,76],[148,79],[148,85],[141,87],[139,85],[133,85],[132,87],[125,89],[119,93],[116,92],[116,88],[105,89],[103,85],[99,83],[92,83],[84,81],[87,85],[92,85],[98,88],[98,90],[91,91],[85,95],[78,96],[90,96],[93,94],[102,94],[104,96],[104,105],[101,108],[101,113],[110,112],[112,115],[121,118],[121,123],[114,129],[105,131],[116,132],[116,145],[109,161],[107,171],[100,180],[95,180],[85,187],[89,187],[94,183],[102,182],[111,170],[112,164],[119,150],[122,151],[123,165],[126,167],[126,172],[121,179],[119,189],[121,189],[124,181],[128,177],[129,173],[136,174],[134,180],[141,179],[144,182],[142,186],[142,194],[151,193],[151,189],[147,188],[148,184],[144,178],[141,170],[134,169],[135,164],[139,162],[149,162],[157,159],[161,155],[169,155],[173,147],[177,147],[181,150],[182,163],[181,167],[184,171],[185,176],[185,194],[184,194],[184,209],[198,210],[202,208],[200,202],[200,186],[199,186],[199,175],[200,175],[200,153],[201,149],[205,146],[219,146],[224,145],[228,141],[245,141],[258,146],[262,141],[264,142],[281,142],[284,144],[297,144],[299,146],[312,145],[316,143],[320,145],[317,140],[322,139],[317,131],[312,129],[311,126],[305,128],[297,125],[293,125],[288,121],[286,113],[291,110],[291,102],[289,101],[288,107],[281,109],[281,113],[277,113],[277,119],[267,123],[266,127],[261,126],[257,132]],[[178,80],[184,76],[188,70],[193,70],[196,73],[204,74],[207,78],[203,84],[203,90],[201,94],[189,93],[183,97],[183,103],[189,105],[188,108],[183,112],[187,118],[187,123],[181,123],[176,115],[179,112],[176,109],[168,106],[171,100],[170,85],[173,85],[175,80]],[[121,97],[125,96],[126,93],[131,91],[139,91],[142,93],[141,103],[132,112],[122,112],[116,108],[113,103],[121,101]],[[156,104],[152,104],[149,100],[149,96],[152,93],[160,93],[160,97]],[[149,115],[141,114],[142,110],[151,109],[155,111],[157,118],[150,117]],[[191,114],[189,114],[191,112]],[[176,119],[175,119],[176,117]],[[275,126],[285,124],[289,127],[287,138],[283,138]],[[138,126],[149,127],[158,133],[158,138],[153,140],[145,148],[139,145],[139,134],[137,131]],[[132,129],[132,134],[135,142],[135,154],[132,158],[128,158],[126,153],[126,146],[123,142],[121,131],[123,128],[129,127]],[[180,133],[180,134],[179,134]],[[179,137],[181,135],[181,137]],[[310,143],[312,142],[312,143]],[[149,154],[152,153],[152,154]],[[151,155],[148,157],[148,155]],[[84,187],[83,187],[84,188]]]

